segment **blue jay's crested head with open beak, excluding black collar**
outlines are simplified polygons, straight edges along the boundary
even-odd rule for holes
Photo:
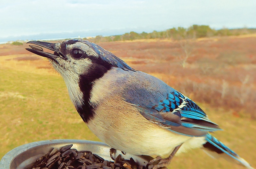
[[[29,45],[28,51],[36,55],[47,57],[55,70],[60,75],[72,76],[72,74],[92,75],[90,72],[97,67],[108,69],[109,67],[120,67],[125,70],[132,70],[124,61],[113,55],[100,46],[87,40],[66,40],[60,43],[48,43],[41,41],[29,41],[54,51],[53,54],[43,51],[43,48]],[[94,72],[95,73],[95,72]]]

